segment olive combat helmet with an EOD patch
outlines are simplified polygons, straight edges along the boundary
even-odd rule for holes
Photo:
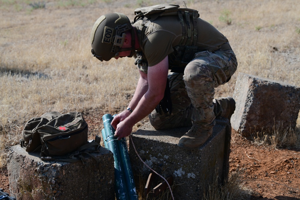
[[[92,54],[100,61],[109,61],[119,56],[120,51],[134,50],[132,48],[121,49],[125,39],[125,32],[132,30],[130,20],[122,13],[109,13],[102,15],[95,22],[91,31]],[[132,55],[131,55],[132,56]]]

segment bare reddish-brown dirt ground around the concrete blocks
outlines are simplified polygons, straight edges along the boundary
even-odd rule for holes
[[[106,110],[84,113],[90,139],[103,128]],[[100,117],[99,117],[100,116]],[[146,122],[141,121],[134,130]],[[251,200],[296,200],[300,197],[300,153],[295,149],[275,149],[257,145],[232,130],[230,172],[240,171],[243,187],[251,191]],[[0,169],[0,188],[9,193],[7,169]]]

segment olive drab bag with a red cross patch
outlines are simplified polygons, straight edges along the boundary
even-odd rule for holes
[[[42,157],[66,155],[88,143],[88,124],[81,112],[46,112],[27,121],[19,142]]]

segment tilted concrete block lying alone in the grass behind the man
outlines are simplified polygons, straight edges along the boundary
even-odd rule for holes
[[[273,126],[295,128],[300,110],[300,88],[280,81],[239,73],[233,98],[232,128],[245,137]]]

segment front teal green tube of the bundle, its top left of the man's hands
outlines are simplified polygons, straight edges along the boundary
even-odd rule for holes
[[[115,193],[117,200],[129,200],[126,181],[124,176],[124,170],[122,169],[122,162],[120,159],[120,151],[118,148],[118,140],[114,136],[115,131],[111,127],[110,123],[112,121],[112,116],[110,114],[103,115],[104,131],[107,140],[107,147],[113,153],[114,157],[114,167],[115,167]]]

